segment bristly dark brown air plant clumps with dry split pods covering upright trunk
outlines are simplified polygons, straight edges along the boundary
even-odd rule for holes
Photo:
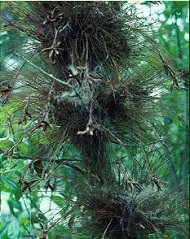
[[[76,227],[88,226],[95,238],[162,237],[178,225],[179,209],[156,171],[165,165],[159,159],[165,148],[155,127],[163,114],[155,92],[164,89],[167,73],[172,87],[179,84],[145,19],[122,2],[29,2],[16,13],[19,4],[10,4],[23,19],[5,20],[33,41],[29,53],[15,52],[23,66],[6,92],[22,98],[18,123],[29,120],[30,133],[47,135],[46,162],[78,175],[85,222]],[[80,153],[77,165],[59,157],[68,145]],[[123,163],[120,152],[132,157]]]

